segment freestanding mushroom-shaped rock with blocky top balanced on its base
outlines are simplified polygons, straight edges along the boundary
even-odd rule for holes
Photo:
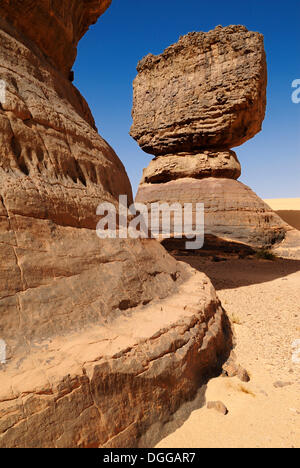
[[[236,180],[241,166],[231,151],[261,130],[265,116],[263,36],[244,26],[190,33],[137,70],[131,135],[155,159],[136,201],[202,202],[207,236],[280,243],[291,228]]]

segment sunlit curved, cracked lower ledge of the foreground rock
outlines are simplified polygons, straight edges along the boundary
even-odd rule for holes
[[[136,447],[147,429],[154,445],[151,425],[195,396],[230,341],[210,281],[189,273],[172,299],[55,334],[9,364],[1,372],[0,446]]]

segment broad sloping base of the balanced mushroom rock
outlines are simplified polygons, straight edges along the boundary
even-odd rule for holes
[[[141,184],[140,203],[204,203],[205,234],[254,248],[280,243],[291,229],[249,187],[231,179],[184,178],[164,184]]]

